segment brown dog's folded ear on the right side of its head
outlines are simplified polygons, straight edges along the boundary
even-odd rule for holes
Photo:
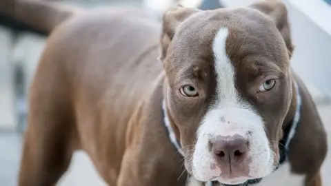
[[[250,8],[259,10],[274,20],[279,32],[281,32],[281,35],[283,36],[286,47],[288,48],[288,54],[291,57],[294,45],[292,45],[288,10],[286,9],[285,4],[279,0],[267,0],[254,3]]]

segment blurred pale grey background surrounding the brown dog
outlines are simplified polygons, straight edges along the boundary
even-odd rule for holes
[[[1,0],[0,0],[1,1]],[[45,0],[44,0],[45,1]],[[188,0],[203,10],[247,6],[257,0]],[[71,0],[85,8],[134,6],[160,17],[175,0]],[[331,0],[284,0],[296,46],[292,68],[305,81],[325,128],[331,132]],[[0,8],[0,185],[17,185],[22,136],[26,128],[26,94],[46,36],[8,17]],[[331,138],[329,135],[329,144]],[[331,148],[329,148],[331,149]],[[331,185],[331,155],[323,165],[323,183]],[[326,175],[329,176],[326,176]],[[76,152],[59,185],[106,185],[86,154]]]

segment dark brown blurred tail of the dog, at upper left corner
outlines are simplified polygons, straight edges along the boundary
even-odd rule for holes
[[[58,1],[0,0],[0,11],[39,32],[49,34],[57,25],[83,10]]]

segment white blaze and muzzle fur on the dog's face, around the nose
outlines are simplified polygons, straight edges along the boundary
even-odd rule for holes
[[[212,45],[217,74],[217,97],[205,114],[197,132],[197,144],[193,155],[193,175],[198,180],[207,181],[219,176],[221,168],[211,169],[216,163],[208,148],[211,138],[216,136],[240,135],[250,143],[248,156],[251,158],[250,175],[254,178],[267,176],[272,172],[273,154],[265,134],[263,119],[254,112],[252,106],[240,98],[235,87],[234,66],[230,61],[225,42],[228,29],[221,28]],[[242,183],[248,177],[232,180],[217,178],[221,183]]]

